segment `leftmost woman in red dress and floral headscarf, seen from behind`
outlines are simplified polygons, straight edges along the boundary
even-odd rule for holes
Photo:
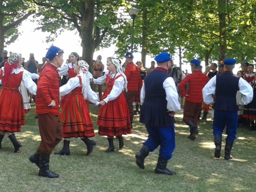
[[[24,69],[21,69],[21,55],[12,53],[5,67],[0,70],[2,88],[0,90],[0,148],[5,134],[8,135],[14,145],[14,152],[18,152],[22,146],[15,138],[14,133],[21,131],[21,125],[25,125],[25,114],[22,96],[18,90],[21,81],[31,94],[36,94],[37,85]]]

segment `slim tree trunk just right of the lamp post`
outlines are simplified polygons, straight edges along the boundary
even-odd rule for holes
[[[147,47],[147,42],[146,42],[146,31],[147,31],[147,16],[148,16],[148,10],[145,8],[142,11],[142,21],[143,21],[143,26],[142,26],[142,51],[141,51],[141,61],[143,63],[143,67],[146,66],[146,55],[148,50],[146,49]]]

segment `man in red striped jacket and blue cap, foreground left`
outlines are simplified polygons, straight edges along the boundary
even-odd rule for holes
[[[52,46],[46,53],[48,61],[41,69],[37,84],[36,110],[41,142],[30,162],[39,168],[39,176],[56,178],[58,174],[49,169],[50,154],[62,139],[59,119],[59,74],[58,67],[63,63],[63,50]]]

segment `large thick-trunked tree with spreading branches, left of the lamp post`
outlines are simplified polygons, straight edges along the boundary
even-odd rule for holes
[[[117,20],[121,0],[33,0],[40,8],[36,16],[43,31],[51,32],[52,41],[62,30],[76,29],[81,37],[82,58],[90,66],[93,53],[100,45],[110,45],[110,33]]]

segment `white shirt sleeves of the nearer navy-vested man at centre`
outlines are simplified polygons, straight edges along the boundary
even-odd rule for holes
[[[178,111],[180,110],[180,102],[178,101],[178,93],[176,90],[176,85],[173,78],[168,77],[163,82],[163,88],[166,93],[166,101],[167,101],[167,110],[168,111]],[[145,98],[145,85],[142,85],[140,91],[140,103],[143,104]]]

